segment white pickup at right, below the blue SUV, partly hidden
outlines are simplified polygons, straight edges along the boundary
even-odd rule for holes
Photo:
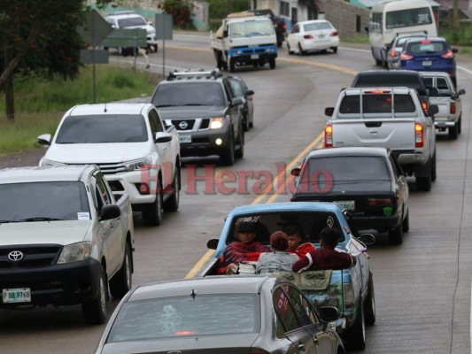
[[[429,104],[436,104],[434,126],[441,132],[447,129],[451,139],[457,139],[462,126],[462,103],[460,96],[466,90],[455,88],[453,80],[444,72],[419,72],[429,89]]]

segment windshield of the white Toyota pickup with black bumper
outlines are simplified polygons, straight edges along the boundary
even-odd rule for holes
[[[83,183],[53,181],[0,185],[0,222],[90,219]]]

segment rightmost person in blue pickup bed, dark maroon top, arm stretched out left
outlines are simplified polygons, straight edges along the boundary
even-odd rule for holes
[[[317,271],[325,269],[346,269],[356,265],[356,258],[337,250],[337,240],[341,231],[336,227],[325,227],[320,232],[320,250],[306,253],[292,266],[292,271]]]

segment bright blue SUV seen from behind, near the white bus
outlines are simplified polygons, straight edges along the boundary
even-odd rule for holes
[[[412,38],[406,42],[400,55],[400,67],[407,70],[449,73],[456,85],[456,62],[454,53],[445,38]]]

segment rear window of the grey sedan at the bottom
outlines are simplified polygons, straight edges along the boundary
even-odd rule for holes
[[[151,298],[124,303],[107,342],[259,333],[256,294]]]

